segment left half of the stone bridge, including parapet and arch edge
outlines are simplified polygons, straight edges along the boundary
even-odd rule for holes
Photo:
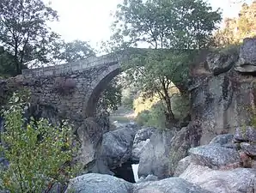
[[[34,100],[57,107],[64,118],[90,117],[94,115],[101,92],[121,72],[120,63],[132,53],[146,50],[134,48],[74,63],[23,69],[23,81],[32,91]]]

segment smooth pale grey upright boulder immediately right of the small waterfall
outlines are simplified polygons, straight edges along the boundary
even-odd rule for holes
[[[139,178],[149,174],[158,178],[169,177],[169,152],[173,136],[172,130],[155,130],[140,156],[137,172]]]

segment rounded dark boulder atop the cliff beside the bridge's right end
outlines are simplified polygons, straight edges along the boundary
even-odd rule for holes
[[[235,65],[237,59],[235,55],[215,53],[210,54],[209,57],[206,58],[206,62],[213,75],[220,75],[229,71],[229,69]]]

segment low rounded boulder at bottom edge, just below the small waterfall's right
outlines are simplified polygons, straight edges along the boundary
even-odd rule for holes
[[[166,178],[155,182],[134,184],[133,193],[210,193],[181,178]]]

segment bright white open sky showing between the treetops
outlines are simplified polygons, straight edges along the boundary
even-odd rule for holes
[[[48,0],[45,0],[49,2]],[[221,7],[223,16],[235,16],[239,6],[230,7],[231,0],[209,0],[213,9]],[[111,36],[110,26],[118,3],[123,0],[51,0],[52,8],[58,11],[59,21],[51,23],[52,29],[66,41],[80,39],[99,48],[102,40]],[[252,2],[252,0],[247,0]]]

